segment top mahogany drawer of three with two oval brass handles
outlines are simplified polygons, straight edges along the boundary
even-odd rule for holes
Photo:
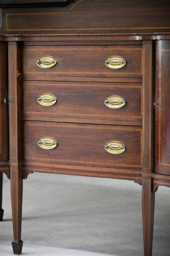
[[[53,66],[52,59],[41,58],[45,56],[53,57],[56,65]],[[123,59],[110,58],[112,56],[122,57],[126,65],[117,69],[122,66],[119,62],[122,63]],[[23,46],[22,58],[22,75],[24,78],[29,76],[32,80],[36,77],[43,77],[43,80],[55,77],[57,80],[60,76],[142,77],[141,45]],[[41,67],[36,65],[37,61]],[[105,65],[105,62],[109,64]],[[116,69],[110,67],[116,67]]]

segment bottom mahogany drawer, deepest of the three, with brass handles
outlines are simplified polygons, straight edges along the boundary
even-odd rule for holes
[[[141,134],[141,127],[24,121],[23,161],[60,168],[67,164],[140,171]],[[119,154],[112,154],[114,149]]]

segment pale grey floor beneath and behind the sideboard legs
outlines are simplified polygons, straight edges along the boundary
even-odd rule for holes
[[[4,175],[0,256],[13,255],[10,181]],[[23,256],[143,256],[141,186],[33,173],[24,180]],[[170,189],[156,192],[153,256],[170,255]],[[136,254],[137,252],[137,254]]]

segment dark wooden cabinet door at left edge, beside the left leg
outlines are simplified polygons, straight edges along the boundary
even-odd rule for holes
[[[0,161],[9,159],[7,44],[0,42]]]

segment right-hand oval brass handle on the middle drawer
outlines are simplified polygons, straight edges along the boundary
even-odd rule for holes
[[[126,101],[121,96],[113,95],[107,97],[104,103],[108,108],[122,108],[125,106]]]

